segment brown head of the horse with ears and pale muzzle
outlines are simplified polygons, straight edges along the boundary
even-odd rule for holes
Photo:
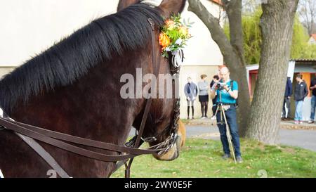
[[[131,0],[131,1],[119,1],[118,11],[131,6],[139,1]],[[164,19],[168,19],[173,14],[178,14],[183,11],[185,6],[185,0],[178,1],[178,0],[164,0],[162,3],[156,7],[159,10],[160,15]],[[154,28],[154,48],[152,51],[153,55],[158,58],[158,65],[159,68],[159,77],[157,77],[157,82],[161,79],[160,75],[170,75],[171,74],[171,60],[162,58],[161,47],[159,46],[158,36],[159,36],[159,29],[160,26],[156,26]],[[159,58],[160,57],[160,58]],[[153,63],[151,63],[154,65]],[[155,68],[157,66],[152,66]],[[154,72],[153,72],[154,73]],[[147,117],[147,121],[145,124],[145,129],[143,133],[143,140],[147,141],[152,148],[159,148],[162,147],[164,150],[160,151],[160,153],[154,154],[154,158],[157,160],[174,160],[178,158],[180,154],[180,146],[185,140],[185,134],[183,134],[183,127],[179,130],[178,120],[179,120],[179,100],[176,98],[176,80],[173,78],[173,82],[168,82],[167,84],[171,84],[173,88],[172,98],[154,98],[152,101],[152,107],[150,109],[149,117]],[[157,87],[157,84],[156,84]],[[168,87],[168,85],[167,85]],[[157,88],[157,94],[161,91],[162,87]],[[166,92],[164,90],[164,92]],[[166,93],[164,93],[166,96]],[[133,126],[136,129],[139,129],[141,117],[143,112],[136,117],[136,120],[133,123]]]

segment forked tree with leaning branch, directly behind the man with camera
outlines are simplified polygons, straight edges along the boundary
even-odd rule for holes
[[[212,39],[218,44],[223,54],[224,62],[230,69],[230,77],[238,82],[239,108],[237,109],[237,123],[239,135],[244,136],[246,122],[250,110],[249,88],[244,63],[243,33],[242,33],[242,2],[240,0],[222,0],[230,22],[230,41],[218,18],[215,18],[199,0],[189,0],[188,11],[192,11],[206,25]]]

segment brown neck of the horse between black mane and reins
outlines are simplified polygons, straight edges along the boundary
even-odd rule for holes
[[[11,117],[65,134],[122,144],[143,100],[122,99],[120,77],[136,75],[136,68],[147,65],[145,56],[135,51],[100,63],[71,85],[29,98]]]

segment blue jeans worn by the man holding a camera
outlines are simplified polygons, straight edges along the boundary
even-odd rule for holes
[[[240,142],[238,135],[238,126],[237,126],[237,117],[236,117],[236,108],[235,106],[231,106],[228,110],[225,111],[226,119],[228,122],[228,127],[230,128],[230,134],[232,136],[232,144],[235,149],[235,156],[242,155],[240,153]],[[220,122],[220,110],[216,115],[217,122]],[[223,124],[217,124],[219,132],[220,132],[220,141],[223,144],[223,151],[225,154],[230,154],[230,147],[228,144],[228,138],[226,135],[226,125],[223,117]]]

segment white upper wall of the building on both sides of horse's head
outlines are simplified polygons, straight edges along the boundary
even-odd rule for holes
[[[115,13],[118,0],[0,0],[0,4],[0,66],[17,66],[94,18]],[[214,15],[219,14],[218,5],[208,0],[202,4]],[[184,50],[184,65],[221,65],[223,56],[209,30],[187,6],[183,18],[195,24]]]

